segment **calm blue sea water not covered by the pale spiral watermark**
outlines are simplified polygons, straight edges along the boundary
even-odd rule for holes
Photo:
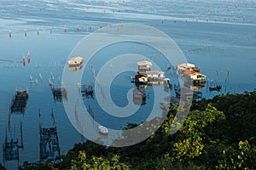
[[[20,149],[20,163],[39,161],[39,124],[42,123],[43,127],[53,125],[51,109],[54,111],[61,152],[67,153],[73,144],[84,141],[69,122],[62,102],[54,100],[48,79],[53,76],[55,85],[61,84],[63,65],[66,64],[68,55],[84,36],[99,29],[100,25],[109,26],[111,23],[119,24],[122,21],[125,25],[135,22],[164,31],[177,42],[189,62],[201,67],[201,72],[207,75],[209,84],[217,81],[225,87],[220,92],[212,93],[208,92],[207,88],[202,88],[201,92],[206,98],[228,92],[252,91],[256,88],[254,1],[68,2],[0,3],[0,141],[4,142],[6,132],[8,139],[20,139],[20,121],[22,122],[24,148]],[[198,23],[195,22],[197,17]],[[214,21],[215,18],[217,21]],[[188,22],[185,22],[186,19]],[[164,20],[164,23],[161,20]],[[174,23],[173,20],[177,22]],[[90,31],[88,26],[91,26]],[[51,34],[49,27],[52,29]],[[9,31],[12,32],[11,38]],[[30,64],[23,66],[22,56],[26,57],[28,51],[32,60]],[[160,65],[163,71],[166,70],[166,60],[161,54],[145,45],[132,42],[103,48],[90,63],[97,73],[108,59],[131,52],[147,56]],[[228,70],[229,78],[225,81]],[[40,73],[43,82],[39,79]],[[36,82],[30,82],[30,75],[33,81],[38,79],[38,85]],[[127,105],[126,94],[134,88],[129,82],[133,75],[134,72],[125,72],[113,81],[111,95],[116,105]],[[172,84],[177,84],[175,74],[166,72],[166,77],[171,78]],[[93,84],[90,65],[84,70],[83,81]],[[9,105],[15,95],[15,88],[28,88],[29,99],[24,114],[9,115]],[[128,118],[108,116],[101,110],[96,99],[84,98],[84,104],[90,105],[96,121],[102,124],[108,122],[109,127],[119,129],[125,127],[128,122],[143,122],[147,117],[154,103],[154,92],[149,87],[146,93],[147,104]],[[171,94],[174,95],[173,91]],[[38,115],[39,109],[41,116]],[[3,163],[3,150],[0,150],[0,160]],[[8,161],[7,167],[14,169],[16,162]]]

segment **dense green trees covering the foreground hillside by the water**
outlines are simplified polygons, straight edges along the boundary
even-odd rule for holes
[[[170,135],[176,111],[172,105],[157,132],[139,144],[106,148],[87,141],[61,163],[24,162],[19,169],[256,169],[256,92],[195,101]]]

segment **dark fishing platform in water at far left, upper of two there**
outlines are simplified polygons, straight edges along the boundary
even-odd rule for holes
[[[15,90],[15,96],[12,99],[12,103],[9,107],[10,113],[13,112],[25,112],[26,102],[28,99],[28,89],[26,90]]]

